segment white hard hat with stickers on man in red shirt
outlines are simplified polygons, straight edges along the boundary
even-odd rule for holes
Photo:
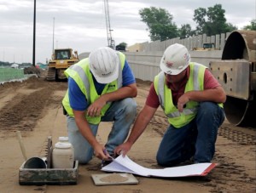
[[[166,74],[177,75],[186,69],[190,62],[190,54],[186,47],[175,43],[166,48],[160,60],[160,69]]]

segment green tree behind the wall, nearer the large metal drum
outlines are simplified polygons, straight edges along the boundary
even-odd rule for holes
[[[212,36],[237,29],[236,26],[227,23],[225,10],[221,4],[215,4],[208,9],[195,9],[193,20],[197,23],[196,34],[206,33],[207,36]]]

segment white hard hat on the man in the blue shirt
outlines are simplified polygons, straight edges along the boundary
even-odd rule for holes
[[[99,83],[110,83],[119,77],[119,56],[112,48],[97,48],[89,55],[90,71]]]

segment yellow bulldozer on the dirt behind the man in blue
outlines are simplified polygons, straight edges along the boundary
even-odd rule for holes
[[[47,81],[61,81],[67,79],[64,71],[75,63],[79,62],[77,51],[72,48],[57,48],[48,63]]]

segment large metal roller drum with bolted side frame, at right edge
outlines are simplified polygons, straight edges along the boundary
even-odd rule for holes
[[[209,66],[227,94],[224,111],[228,121],[236,126],[255,126],[256,31],[232,31],[222,60]]]

